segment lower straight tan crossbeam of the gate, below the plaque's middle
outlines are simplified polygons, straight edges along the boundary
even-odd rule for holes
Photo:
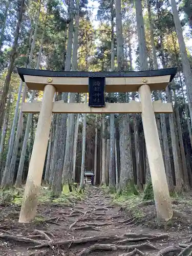
[[[22,105],[23,113],[39,113],[41,102],[26,102]],[[171,103],[153,102],[155,113],[172,113]],[[132,100],[130,103],[106,103],[105,108],[91,108],[84,103],[64,103],[62,100],[53,103],[52,113],[141,113],[141,103]]]

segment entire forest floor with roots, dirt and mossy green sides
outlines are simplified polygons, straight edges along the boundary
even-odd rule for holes
[[[87,186],[76,198],[47,202],[41,196],[31,224],[18,223],[18,195],[14,203],[2,200],[0,255],[184,256],[191,251],[190,197],[172,201],[174,218],[166,223],[157,222],[153,201],[141,202],[139,196],[112,198]]]

